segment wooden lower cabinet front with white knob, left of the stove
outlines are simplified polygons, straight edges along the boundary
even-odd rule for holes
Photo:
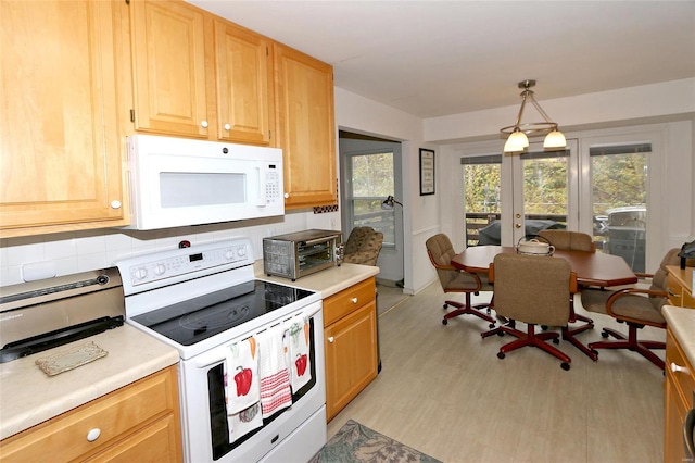
[[[176,366],[0,442],[2,462],[180,462]]]

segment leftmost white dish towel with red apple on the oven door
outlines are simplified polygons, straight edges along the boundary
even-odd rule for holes
[[[247,410],[261,400],[258,356],[258,347],[253,336],[227,348],[225,392],[228,415]]]

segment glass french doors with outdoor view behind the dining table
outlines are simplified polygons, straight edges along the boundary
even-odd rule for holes
[[[647,236],[656,239],[659,228],[658,211],[647,215],[658,196],[647,182],[648,172],[659,177],[653,145],[623,135],[585,138],[581,150],[568,139],[561,151],[531,143],[523,154],[463,158],[466,245],[516,246],[542,229],[577,230],[646,272]]]

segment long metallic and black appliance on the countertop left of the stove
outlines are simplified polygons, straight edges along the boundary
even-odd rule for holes
[[[0,363],[123,325],[118,268],[0,287]]]

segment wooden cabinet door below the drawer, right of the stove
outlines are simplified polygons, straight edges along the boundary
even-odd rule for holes
[[[377,304],[370,302],[325,330],[326,414],[330,421],[377,377]]]

